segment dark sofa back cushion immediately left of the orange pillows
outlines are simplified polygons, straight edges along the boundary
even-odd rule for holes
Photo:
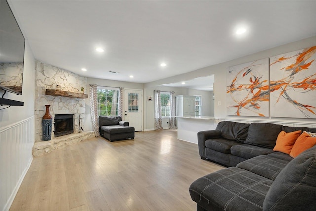
[[[272,149],[276,145],[282,125],[273,123],[251,123],[245,144],[252,144]]]

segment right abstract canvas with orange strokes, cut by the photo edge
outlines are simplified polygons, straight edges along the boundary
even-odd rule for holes
[[[316,118],[316,46],[270,58],[270,113]]]

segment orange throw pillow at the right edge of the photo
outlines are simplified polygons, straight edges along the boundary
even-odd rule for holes
[[[304,131],[295,141],[290,156],[295,158],[305,150],[316,145],[316,137],[312,136],[314,136],[313,133],[307,133]]]

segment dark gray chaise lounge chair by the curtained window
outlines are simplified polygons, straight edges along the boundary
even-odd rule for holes
[[[122,121],[121,116],[99,116],[99,132],[111,142],[135,137],[135,128]]]

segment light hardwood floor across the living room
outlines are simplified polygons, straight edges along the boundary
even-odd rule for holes
[[[34,158],[10,211],[195,211],[190,184],[219,169],[176,130],[93,138]]]

